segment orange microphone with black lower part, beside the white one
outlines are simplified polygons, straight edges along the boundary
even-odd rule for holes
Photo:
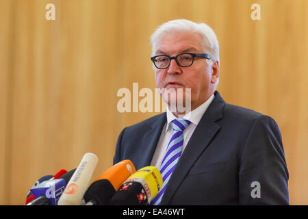
[[[133,172],[136,168],[129,159],[114,164],[89,186],[84,194],[86,205],[108,205],[116,190]]]

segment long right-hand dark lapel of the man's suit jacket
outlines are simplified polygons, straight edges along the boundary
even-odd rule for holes
[[[216,121],[222,118],[222,110],[224,107],[224,101],[220,94],[215,92],[215,99],[209,105],[209,108],[203,114],[200,122],[198,123],[190,141],[188,142],[175,170],[173,170],[164,196],[162,198],[161,205],[168,205],[168,202],[172,198],[173,194],[181,184],[181,181],[185,178],[190,168],[192,168],[196,159],[207,149],[209,142],[214,138],[220,126]]]

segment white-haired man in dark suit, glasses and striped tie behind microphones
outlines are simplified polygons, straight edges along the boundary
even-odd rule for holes
[[[162,168],[175,140],[172,123],[183,118],[188,127],[181,130],[181,152],[176,162],[172,158],[168,182],[153,205],[287,205],[279,127],[269,116],[225,103],[216,91],[220,61],[214,31],[175,20],[161,25],[151,40],[155,81],[168,107],[123,129],[114,164],[130,159],[136,169]],[[171,97],[172,89],[183,94]],[[180,112],[180,99],[190,113]]]

